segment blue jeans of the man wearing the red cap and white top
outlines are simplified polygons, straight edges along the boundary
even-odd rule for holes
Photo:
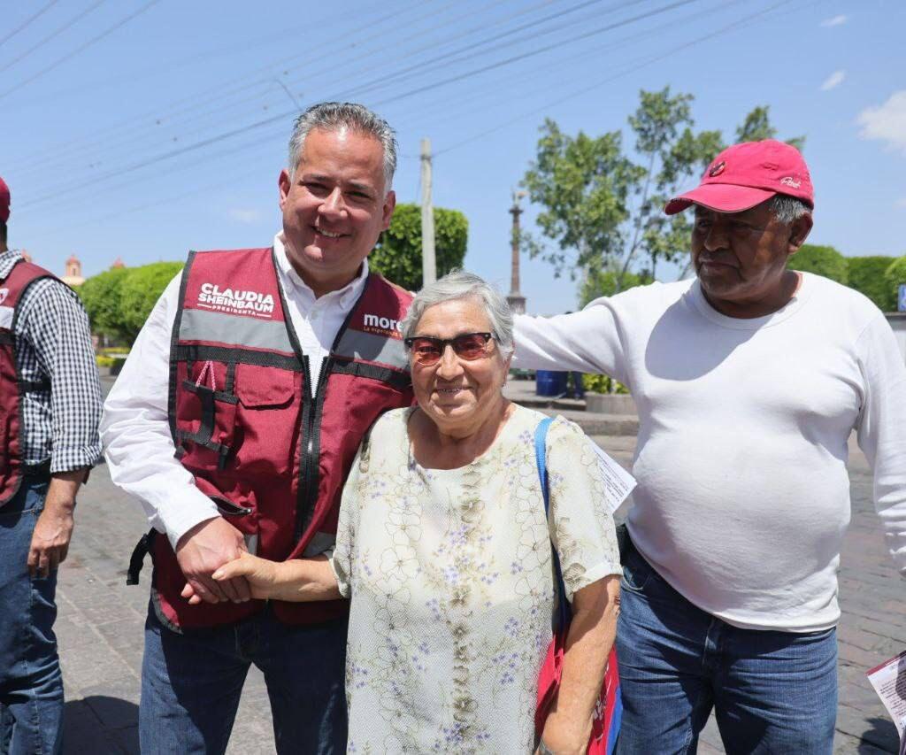
[[[738,629],[689,603],[634,547],[621,592],[621,753],[694,753],[712,708],[729,755],[832,752],[836,630]]]

